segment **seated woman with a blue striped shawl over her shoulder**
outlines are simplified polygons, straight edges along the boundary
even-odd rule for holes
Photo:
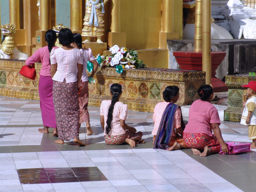
[[[183,141],[183,129],[185,128],[180,106],[175,105],[179,99],[179,87],[168,86],[163,91],[165,102],[157,103],[154,108],[153,121],[155,148],[164,148],[167,151],[187,148]]]

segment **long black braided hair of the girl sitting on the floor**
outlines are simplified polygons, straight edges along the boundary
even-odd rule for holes
[[[107,126],[106,126],[107,134],[109,134],[111,131],[111,122],[113,119],[113,109],[114,109],[114,105],[118,101],[118,97],[119,97],[120,93],[122,92],[122,85],[120,85],[118,83],[112,84],[110,87],[110,92],[112,93],[112,101],[111,101],[111,105],[109,106],[109,109],[108,109],[108,119],[107,119]]]

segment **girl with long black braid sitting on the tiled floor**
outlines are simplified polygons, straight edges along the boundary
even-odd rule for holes
[[[135,147],[141,140],[142,132],[136,132],[133,127],[125,123],[127,117],[127,105],[119,102],[122,95],[122,86],[112,84],[110,88],[112,100],[104,100],[100,105],[100,124],[104,130],[105,143],[108,145],[120,145],[128,143]]]

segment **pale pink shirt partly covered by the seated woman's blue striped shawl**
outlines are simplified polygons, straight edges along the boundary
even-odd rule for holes
[[[153,121],[154,121],[154,129],[152,131],[152,135],[157,134],[157,130],[159,128],[163,112],[166,109],[166,106],[169,104],[169,102],[159,102],[154,108],[153,113]],[[181,115],[180,115],[180,108],[177,108],[177,111],[175,112],[175,119],[174,119],[174,128],[180,128],[181,127]],[[175,131],[172,131],[172,136],[176,137]]]

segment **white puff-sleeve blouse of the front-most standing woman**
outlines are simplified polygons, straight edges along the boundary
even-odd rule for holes
[[[51,64],[57,64],[57,71],[52,80],[63,82],[66,79],[66,83],[76,82],[77,64],[83,64],[83,58],[82,49],[52,49]]]

